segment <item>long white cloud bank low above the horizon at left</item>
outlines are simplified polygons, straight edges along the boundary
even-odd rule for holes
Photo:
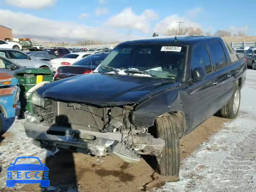
[[[45,18],[0,9],[1,24],[12,28],[16,38],[38,38],[57,41],[85,40],[85,33],[90,33],[90,40],[114,41],[138,38],[130,34],[120,34],[112,28],[90,27],[76,22],[54,21]]]

